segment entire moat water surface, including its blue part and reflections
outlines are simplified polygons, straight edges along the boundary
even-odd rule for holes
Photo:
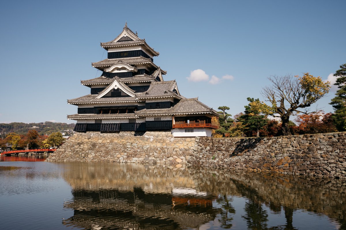
[[[1,229],[340,229],[346,180],[0,157]]]

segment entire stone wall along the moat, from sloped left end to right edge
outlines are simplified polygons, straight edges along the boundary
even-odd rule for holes
[[[346,132],[272,138],[86,132],[74,134],[47,161],[191,164],[346,178]]]

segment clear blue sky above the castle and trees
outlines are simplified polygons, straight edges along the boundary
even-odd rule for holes
[[[66,100],[90,93],[80,80],[100,76],[91,67],[107,57],[100,42],[118,36],[125,21],[160,52],[154,63],[168,72],[164,80],[175,79],[184,97],[199,97],[214,109],[230,107],[232,115],[244,111],[247,97],[264,100],[260,91],[272,75],[310,72],[327,79],[346,63],[344,0],[34,0],[0,6],[0,123],[73,123],[66,115],[77,107]],[[334,94],[318,106],[333,111],[328,103]]]

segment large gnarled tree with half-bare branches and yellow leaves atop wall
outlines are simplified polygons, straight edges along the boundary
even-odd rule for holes
[[[317,111],[309,111],[311,104],[325,96],[329,92],[329,82],[323,82],[320,77],[314,77],[304,73],[302,77],[286,75],[268,78],[272,86],[263,88],[262,95],[269,104],[261,101],[251,102],[254,110],[279,117],[281,119],[281,132],[290,135],[290,117],[299,113],[309,114]]]

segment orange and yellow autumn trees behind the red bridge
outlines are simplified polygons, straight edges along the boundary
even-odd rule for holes
[[[37,130],[29,130],[25,135],[15,132],[6,135],[6,138],[0,139],[0,148],[8,148],[8,144],[12,150],[21,149],[46,149],[57,148],[64,143],[61,132],[53,132],[49,136],[38,134]]]

